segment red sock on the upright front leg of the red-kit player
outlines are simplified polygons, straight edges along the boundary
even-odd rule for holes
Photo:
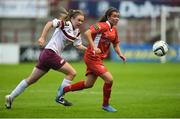
[[[109,105],[109,98],[111,96],[112,83],[104,83],[103,87],[103,106]]]

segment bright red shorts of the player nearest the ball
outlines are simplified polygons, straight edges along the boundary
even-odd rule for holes
[[[86,56],[84,56],[84,61],[86,63],[86,76],[88,74],[93,74],[96,76],[100,76],[101,74],[104,74],[105,72],[107,72],[108,70],[106,69],[106,67],[103,64],[102,60],[99,61],[94,61],[91,60],[89,58],[87,58]]]

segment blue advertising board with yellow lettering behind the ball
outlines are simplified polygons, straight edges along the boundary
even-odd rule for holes
[[[154,55],[151,44],[121,44],[120,47],[128,62],[160,62],[160,57]],[[169,46],[166,58],[167,61],[180,62],[180,45]],[[113,49],[111,50],[111,59],[121,61]]]

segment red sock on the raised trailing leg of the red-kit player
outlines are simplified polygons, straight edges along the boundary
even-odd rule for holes
[[[84,87],[85,87],[84,81],[79,81],[77,83],[64,87],[64,92],[78,91],[84,89]]]

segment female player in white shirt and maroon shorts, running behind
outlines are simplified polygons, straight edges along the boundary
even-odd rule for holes
[[[66,14],[66,16],[63,16],[63,14]],[[15,97],[21,94],[28,86],[38,81],[50,69],[54,69],[65,74],[64,80],[61,84],[62,87],[69,85],[75,77],[75,69],[67,61],[65,61],[60,54],[63,52],[65,46],[70,43],[73,43],[73,45],[78,49],[87,49],[82,45],[79,30],[79,27],[84,21],[84,14],[80,10],[70,10],[69,12],[63,11],[61,16],[64,19],[54,19],[47,22],[45,25],[41,37],[38,39],[39,45],[43,46],[45,44],[48,31],[52,27],[55,28],[54,34],[42,50],[39,56],[39,61],[34,67],[31,75],[22,80],[9,95],[6,95],[6,108],[10,109]],[[63,97],[58,98],[60,97],[59,91],[60,90],[58,90],[56,102],[65,106],[70,106],[71,103]]]

